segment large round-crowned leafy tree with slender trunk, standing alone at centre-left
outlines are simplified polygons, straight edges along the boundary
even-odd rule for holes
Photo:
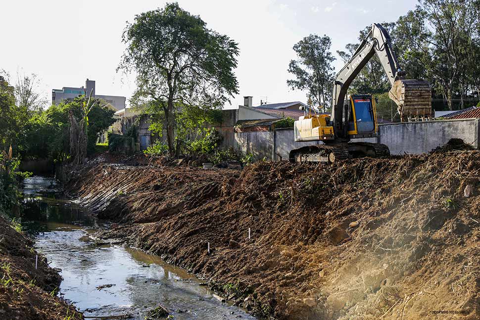
[[[152,104],[163,111],[167,145],[174,154],[177,115],[183,106],[219,109],[238,82],[238,44],[206,27],[178,3],[144,12],[127,23],[122,41],[127,48],[117,70],[135,71],[136,104]]]

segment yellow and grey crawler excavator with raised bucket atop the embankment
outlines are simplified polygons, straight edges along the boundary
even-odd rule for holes
[[[296,142],[322,141],[315,145],[290,151],[291,162],[329,162],[352,157],[389,156],[388,147],[381,143],[365,142],[378,137],[376,99],[371,94],[351,94],[347,91],[367,62],[377,54],[392,86],[388,96],[398,106],[401,121],[405,117],[429,118],[432,112],[432,88],[423,80],[405,79],[392,50],[390,36],[380,24],[375,23],[334,80],[332,113],[308,114],[294,122]],[[302,108],[302,107],[301,107]],[[305,111],[305,109],[303,109]],[[363,139],[351,142],[351,139]],[[375,139],[369,139],[375,140]]]

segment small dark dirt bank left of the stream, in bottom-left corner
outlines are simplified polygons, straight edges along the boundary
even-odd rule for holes
[[[61,276],[32,245],[0,217],[0,319],[84,319],[56,296]]]

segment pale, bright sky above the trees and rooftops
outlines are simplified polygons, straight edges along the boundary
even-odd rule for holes
[[[136,14],[163,7],[166,1],[135,0],[16,0],[1,4],[0,70],[15,81],[17,72],[38,75],[45,96],[51,90],[80,87],[96,81],[96,93],[123,95],[135,90],[134,76],[117,73],[125,49],[121,42],[126,21]],[[239,43],[235,74],[239,94],[268,103],[304,101],[305,92],[292,91],[288,63],[292,47],[309,34],[327,35],[336,50],[358,43],[358,33],[376,22],[396,21],[413,9],[417,0],[178,0],[199,15],[207,27]],[[128,103],[127,103],[128,104]],[[226,105],[228,108],[229,105]]]

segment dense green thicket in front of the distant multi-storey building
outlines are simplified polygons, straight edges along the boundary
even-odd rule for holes
[[[0,152],[11,145],[19,159],[68,160],[71,113],[87,133],[87,153],[94,153],[99,135],[114,122],[114,111],[102,100],[91,99],[87,103],[85,96],[63,100],[43,110],[38,104],[38,94],[28,91],[30,82],[23,78],[14,88],[0,76]],[[90,110],[86,110],[87,106]]]

